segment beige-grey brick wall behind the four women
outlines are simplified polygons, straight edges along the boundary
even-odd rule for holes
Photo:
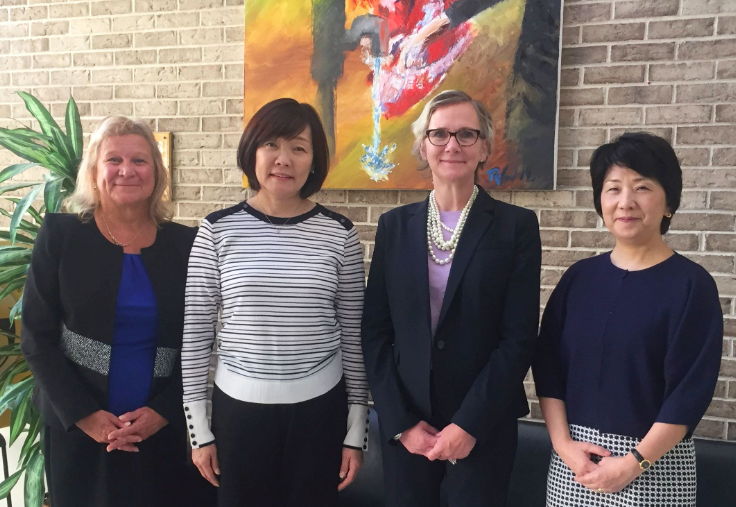
[[[196,224],[244,197],[235,166],[242,4],[0,0],[0,125],[28,117],[16,90],[57,116],[73,94],[86,131],[109,114],[150,119],[174,133],[177,219]],[[736,440],[736,1],[568,0],[562,36],[558,189],[494,196],[538,213],[546,300],[567,266],[612,246],[589,190],[593,149],[626,130],[674,143],[686,188],[668,242],[713,274],[726,315],[721,378],[698,434]],[[0,167],[15,161],[0,152]],[[318,199],[356,223],[368,261],[380,214],[425,195],[330,190]]]

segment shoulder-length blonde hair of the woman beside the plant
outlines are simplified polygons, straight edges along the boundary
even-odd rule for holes
[[[158,144],[153,137],[151,127],[140,119],[126,118],[125,116],[109,116],[102,120],[92,133],[89,145],[84,153],[82,163],[77,173],[77,187],[67,201],[70,211],[88,221],[94,216],[100,205],[100,196],[95,192],[95,172],[100,144],[108,137],[136,135],[148,142],[151,149],[154,166],[153,193],[149,197],[148,215],[155,224],[168,222],[173,216],[171,204],[163,200],[166,188],[169,186],[169,174],[164,167],[164,161]]]

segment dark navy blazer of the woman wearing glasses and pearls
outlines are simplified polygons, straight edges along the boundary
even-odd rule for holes
[[[439,416],[482,443],[502,418],[529,412],[523,380],[539,322],[539,225],[534,212],[478,193],[433,338],[428,202],[378,221],[362,322],[366,373],[386,438]]]

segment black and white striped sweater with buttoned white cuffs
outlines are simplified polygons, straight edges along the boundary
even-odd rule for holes
[[[364,280],[355,227],[320,205],[284,219],[243,202],[205,218],[189,257],[182,346],[192,447],[214,441],[207,423],[214,345],[215,383],[241,401],[298,403],[325,394],[344,376],[344,443],[364,449]]]

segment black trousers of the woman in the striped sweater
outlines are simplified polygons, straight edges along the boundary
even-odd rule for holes
[[[317,398],[273,405],[233,399],[215,385],[218,507],[336,506],[347,414],[342,380]]]

